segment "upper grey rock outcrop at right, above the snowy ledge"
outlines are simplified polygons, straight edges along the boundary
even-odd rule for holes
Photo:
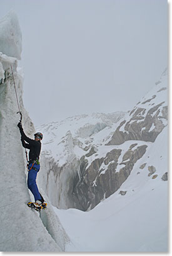
[[[160,111],[160,107],[164,102],[150,108],[146,113],[145,108],[134,108],[129,114],[131,119],[126,122],[124,120],[114,131],[111,140],[107,145],[121,145],[128,140],[142,140],[144,142],[154,142],[156,137],[164,128],[162,118],[168,118],[167,106]],[[146,116],[144,114],[146,113]],[[151,130],[151,126],[154,126]]]

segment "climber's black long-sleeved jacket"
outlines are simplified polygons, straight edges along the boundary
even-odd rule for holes
[[[23,131],[23,128],[20,128],[21,133],[21,142],[24,148],[29,148],[29,162],[32,162],[36,159],[39,160],[39,155],[41,152],[41,142],[32,140],[31,138],[28,138],[26,134]],[[28,143],[26,143],[28,142]]]

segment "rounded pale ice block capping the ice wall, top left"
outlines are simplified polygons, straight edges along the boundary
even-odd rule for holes
[[[16,13],[10,11],[0,20],[0,52],[21,60],[22,35]]]

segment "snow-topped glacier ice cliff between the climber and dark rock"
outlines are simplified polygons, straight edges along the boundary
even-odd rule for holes
[[[73,208],[74,178],[79,175],[81,157],[92,154],[104,135],[116,126],[125,113],[94,113],[53,122],[37,128],[44,135],[39,186],[43,187],[54,206]]]

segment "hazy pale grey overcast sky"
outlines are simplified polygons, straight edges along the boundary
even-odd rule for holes
[[[1,0],[0,18],[11,9],[34,125],[128,111],[168,66],[167,0]]]

